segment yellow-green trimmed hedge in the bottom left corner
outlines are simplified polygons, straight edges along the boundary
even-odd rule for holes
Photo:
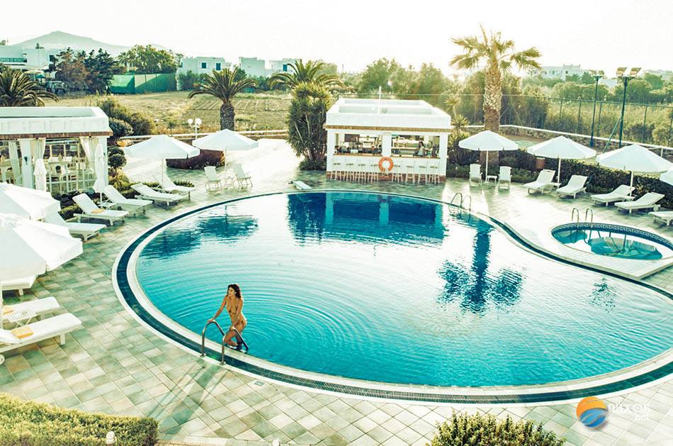
[[[109,431],[117,445],[154,445],[157,420],[64,409],[0,394],[0,445],[105,445]]]

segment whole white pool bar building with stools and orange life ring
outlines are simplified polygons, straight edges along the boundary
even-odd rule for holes
[[[324,128],[329,177],[446,179],[451,116],[425,101],[341,98],[327,111]]]

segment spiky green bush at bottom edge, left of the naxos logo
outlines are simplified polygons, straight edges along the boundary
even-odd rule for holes
[[[514,423],[509,416],[497,420],[492,415],[453,413],[451,420],[439,425],[431,446],[561,446],[564,442],[531,420]]]

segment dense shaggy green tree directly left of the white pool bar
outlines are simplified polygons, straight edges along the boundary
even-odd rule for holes
[[[292,91],[288,112],[288,142],[297,156],[305,159],[302,169],[324,169],[327,154],[327,132],[324,130],[332,95],[326,87],[302,82]]]

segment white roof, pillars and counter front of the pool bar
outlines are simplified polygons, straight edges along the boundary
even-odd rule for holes
[[[324,128],[327,130],[328,175],[334,169],[334,160],[339,158],[343,158],[344,162],[369,167],[371,162],[378,162],[381,157],[391,157],[395,164],[427,163],[428,167],[440,173],[442,181],[446,176],[446,148],[451,132],[451,116],[425,101],[341,98],[327,111]],[[380,152],[378,147],[373,147],[371,152],[339,152],[338,148],[344,143],[346,135],[373,137],[380,141]],[[415,140],[406,140],[407,147],[398,143],[405,136],[421,137],[426,146],[433,145],[432,142],[439,139],[439,147],[431,151],[431,156],[419,156],[417,150],[414,150]],[[394,143],[400,144],[400,147]]]

